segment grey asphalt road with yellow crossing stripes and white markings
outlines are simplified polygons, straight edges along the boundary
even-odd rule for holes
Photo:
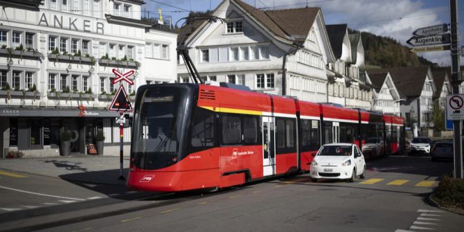
[[[461,231],[462,215],[425,202],[451,170],[428,157],[386,157],[355,183],[299,175],[177,194],[0,172],[0,230]]]

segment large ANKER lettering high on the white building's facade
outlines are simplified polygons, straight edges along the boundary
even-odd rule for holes
[[[53,15],[48,19],[45,13],[39,20],[39,26],[48,26],[53,28],[62,28],[69,30],[82,30],[85,32],[93,32],[97,34],[105,33],[105,24],[100,21],[92,22],[88,19],[80,19],[78,17],[64,17],[63,15]]]

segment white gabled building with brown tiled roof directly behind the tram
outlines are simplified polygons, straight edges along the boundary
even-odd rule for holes
[[[239,0],[224,0],[187,39],[189,54],[206,80],[301,100],[327,102],[325,66],[334,55],[320,8],[262,11]],[[179,64],[180,82],[188,82]]]

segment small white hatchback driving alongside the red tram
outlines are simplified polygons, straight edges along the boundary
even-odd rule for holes
[[[323,145],[311,163],[311,180],[347,179],[366,177],[366,161],[357,145],[352,143],[329,143]]]

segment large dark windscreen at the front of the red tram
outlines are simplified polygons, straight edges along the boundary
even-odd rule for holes
[[[164,168],[180,158],[187,95],[187,89],[177,87],[145,89],[134,114],[134,166]]]

